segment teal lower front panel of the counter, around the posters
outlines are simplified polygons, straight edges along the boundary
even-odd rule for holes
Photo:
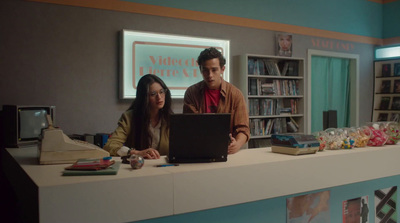
[[[139,221],[140,223],[243,223],[243,222],[264,222],[264,223],[286,223],[286,199],[294,196],[315,193],[319,191],[330,191],[330,219],[331,223],[342,222],[342,202],[345,200],[368,196],[369,218],[368,222],[375,222],[375,201],[374,192],[379,189],[386,189],[397,186],[399,190],[400,175],[354,183],[344,186],[327,188],[324,190],[310,191],[302,194],[272,198],[250,203],[238,204],[228,207],[215,208],[211,210],[198,211],[193,213],[163,217]],[[294,184],[296,182],[293,182]],[[251,188],[250,188],[251,189]],[[399,207],[399,191],[397,191],[397,207]],[[398,213],[399,208],[397,208]],[[397,222],[399,215],[397,214]],[[327,222],[328,223],[328,222]]]

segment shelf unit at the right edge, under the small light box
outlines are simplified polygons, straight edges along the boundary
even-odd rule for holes
[[[374,62],[372,121],[399,121],[400,59]]]

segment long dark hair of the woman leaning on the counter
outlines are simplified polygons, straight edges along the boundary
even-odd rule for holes
[[[140,78],[136,89],[136,98],[128,108],[133,112],[131,132],[127,138],[127,146],[130,148],[143,150],[151,147],[149,91],[150,85],[153,83],[159,83],[163,89],[167,89],[164,107],[160,109],[160,121],[164,121],[169,129],[169,117],[172,114],[171,92],[159,77],[154,74],[146,74]]]

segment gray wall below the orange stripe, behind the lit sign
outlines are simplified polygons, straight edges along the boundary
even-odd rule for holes
[[[122,29],[229,39],[230,59],[275,53],[274,31],[6,0],[0,3],[0,105],[55,105],[57,125],[67,134],[113,131],[131,103],[118,99]],[[316,46],[317,40],[330,44]],[[353,47],[344,50],[337,43]],[[359,120],[369,121],[373,46],[294,35],[293,56],[307,58],[307,49],[360,55]],[[182,100],[173,104],[175,112],[182,111]]]

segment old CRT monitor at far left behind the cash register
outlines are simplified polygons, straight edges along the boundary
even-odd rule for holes
[[[37,144],[43,128],[48,127],[46,115],[55,122],[55,106],[3,105],[2,123],[6,147]]]

